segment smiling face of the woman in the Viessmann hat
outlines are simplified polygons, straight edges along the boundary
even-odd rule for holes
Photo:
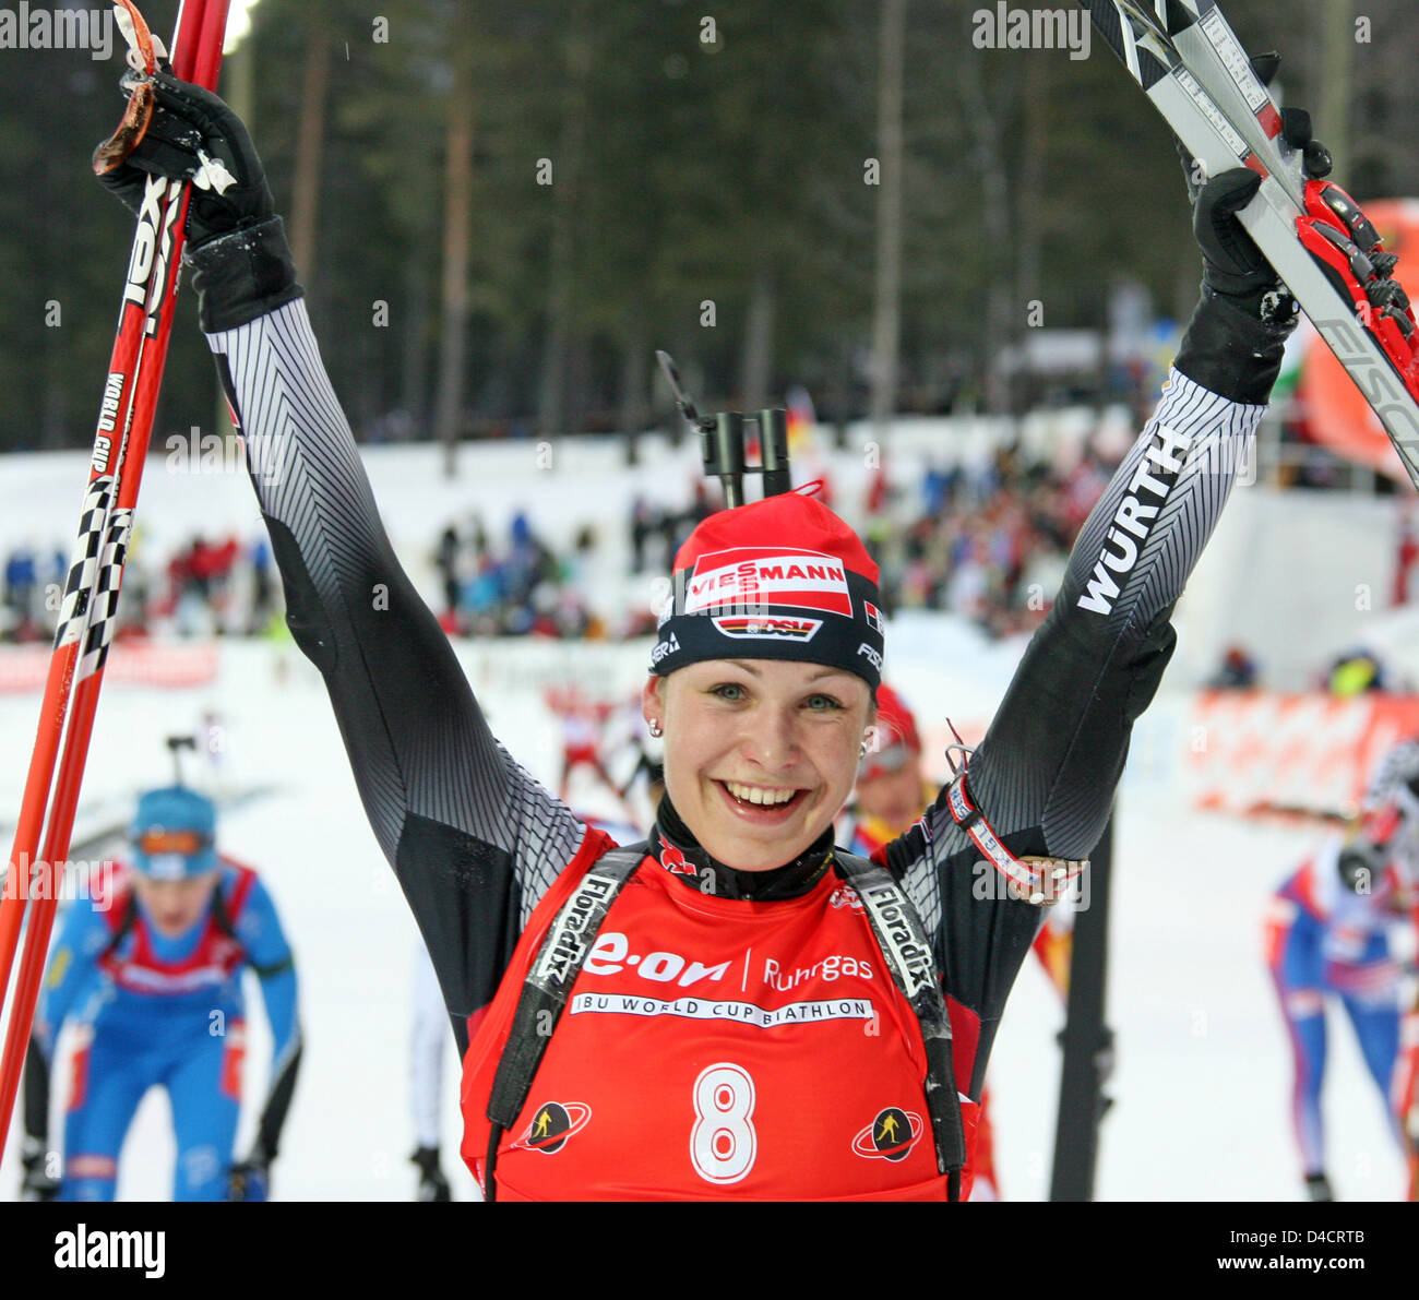
[[[841,810],[873,721],[861,677],[820,664],[717,659],[651,677],[666,788],[701,847],[741,871],[797,857]]]

